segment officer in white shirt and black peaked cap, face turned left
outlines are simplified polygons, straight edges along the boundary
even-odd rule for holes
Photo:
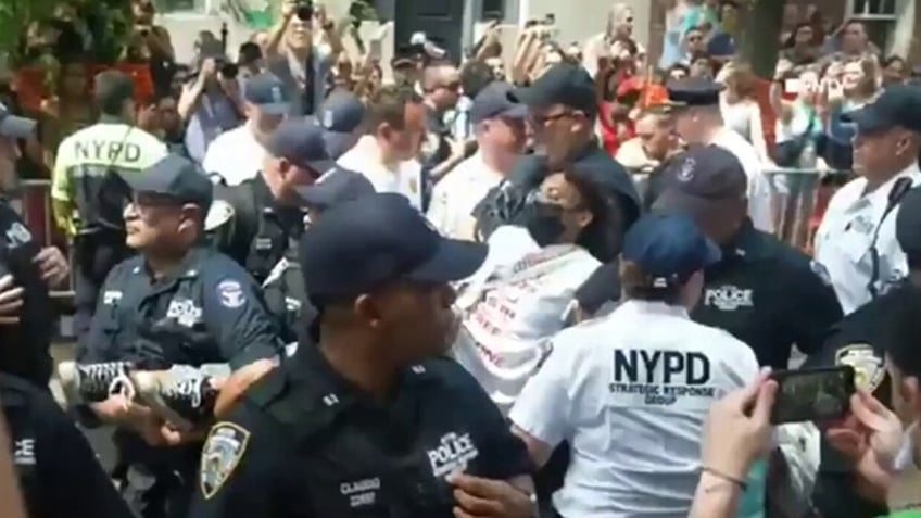
[[[739,159],[748,177],[748,216],[758,230],[773,232],[771,185],[755,147],[723,124],[720,90],[721,87],[709,78],[669,83],[668,98],[674,113],[674,129],[689,144],[719,146]]]

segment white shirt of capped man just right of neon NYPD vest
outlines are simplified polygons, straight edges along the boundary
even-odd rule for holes
[[[249,123],[243,123],[214,139],[204,154],[202,168],[209,175],[219,175],[228,186],[239,186],[258,175],[265,154]]]

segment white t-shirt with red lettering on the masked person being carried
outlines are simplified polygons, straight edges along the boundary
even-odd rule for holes
[[[455,359],[503,414],[548,354],[550,339],[568,324],[573,292],[601,266],[581,247],[541,249],[520,232],[527,235],[520,227],[493,232],[485,270],[475,274],[457,302]]]

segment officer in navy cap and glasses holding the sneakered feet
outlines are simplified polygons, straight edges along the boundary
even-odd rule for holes
[[[134,191],[125,209],[127,243],[140,254],[109,275],[78,364],[59,372],[89,402],[81,407],[88,425],[119,425],[114,476],[133,509],[143,517],[185,516],[199,454],[194,435],[174,433],[149,408],[110,395],[110,387],[135,368],[238,368],[278,356],[281,343],[257,285],[203,242],[212,185],[194,163],[168,155],[125,180]],[[203,393],[207,387],[182,376],[159,383],[167,404],[189,420],[203,418],[213,403],[214,394]],[[161,447],[172,443],[181,445]]]

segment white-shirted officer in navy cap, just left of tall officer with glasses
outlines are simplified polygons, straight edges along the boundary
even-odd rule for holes
[[[434,186],[428,217],[450,238],[475,239],[474,209],[508,176],[525,151],[528,108],[515,102],[512,91],[512,85],[494,81],[474,98],[469,116],[477,152]]]

